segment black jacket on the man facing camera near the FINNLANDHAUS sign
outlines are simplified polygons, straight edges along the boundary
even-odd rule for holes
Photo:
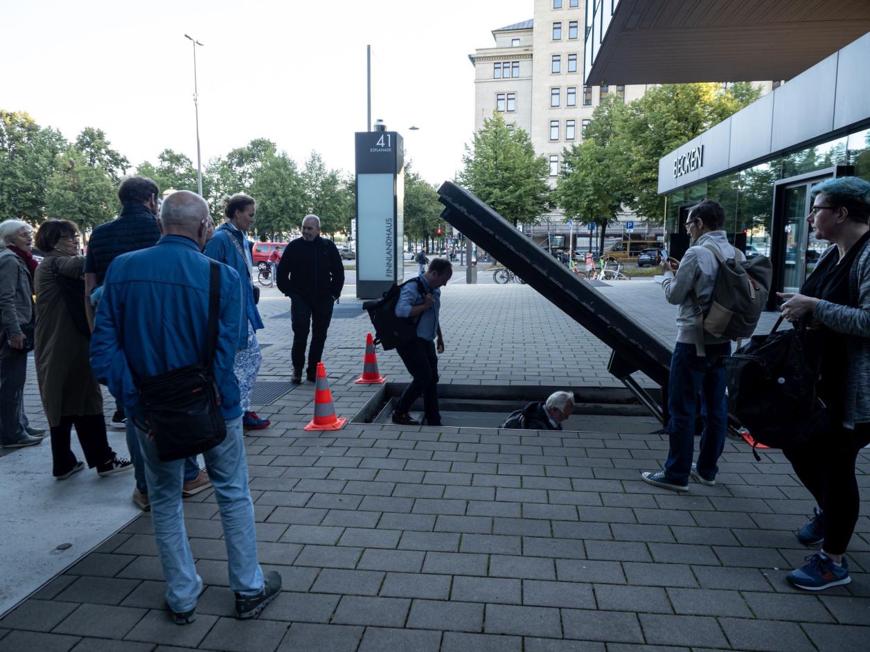
[[[276,275],[278,289],[298,296],[309,305],[341,296],[345,287],[345,266],[331,240],[317,236],[310,243],[298,237],[287,245]]]

